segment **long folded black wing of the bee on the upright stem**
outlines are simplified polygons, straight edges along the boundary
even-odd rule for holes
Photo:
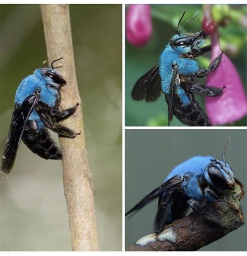
[[[16,105],[14,109],[8,139],[4,149],[2,173],[9,173],[13,167],[24,128],[35,104],[39,100],[39,94],[40,91],[38,90],[33,95],[26,97],[22,104]]]

